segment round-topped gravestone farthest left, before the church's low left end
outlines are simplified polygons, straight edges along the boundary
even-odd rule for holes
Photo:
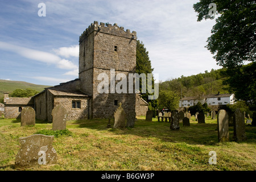
[[[35,125],[35,110],[32,107],[22,109],[20,117],[20,126]]]

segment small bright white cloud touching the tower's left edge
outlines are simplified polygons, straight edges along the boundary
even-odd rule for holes
[[[58,49],[53,49],[53,51],[59,55],[64,56],[65,58],[79,57],[79,46],[71,46],[71,47],[60,47]]]

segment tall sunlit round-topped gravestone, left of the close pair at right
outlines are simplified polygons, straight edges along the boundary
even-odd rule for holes
[[[229,140],[229,117],[224,109],[218,111],[217,117],[218,141],[226,142]]]

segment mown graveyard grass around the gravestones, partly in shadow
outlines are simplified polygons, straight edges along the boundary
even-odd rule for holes
[[[113,120],[112,120],[113,126]],[[247,140],[218,142],[217,121],[207,118],[191,126],[180,123],[171,131],[169,122],[145,121],[139,117],[133,128],[107,128],[108,119],[68,121],[67,129],[52,131],[52,123],[36,120],[20,127],[20,119],[0,118],[0,170],[255,170],[256,127],[246,126]],[[20,149],[18,139],[32,134],[55,135],[57,163],[26,169],[14,167]],[[217,164],[210,165],[210,151]]]

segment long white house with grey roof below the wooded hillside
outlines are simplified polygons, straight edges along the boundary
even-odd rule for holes
[[[198,99],[197,97],[184,97],[179,102],[179,107],[189,107],[194,106],[197,104],[197,102],[201,102],[201,104],[204,104],[207,102],[207,105],[226,105],[226,104],[234,104],[234,94],[210,94],[205,95],[201,99]]]

